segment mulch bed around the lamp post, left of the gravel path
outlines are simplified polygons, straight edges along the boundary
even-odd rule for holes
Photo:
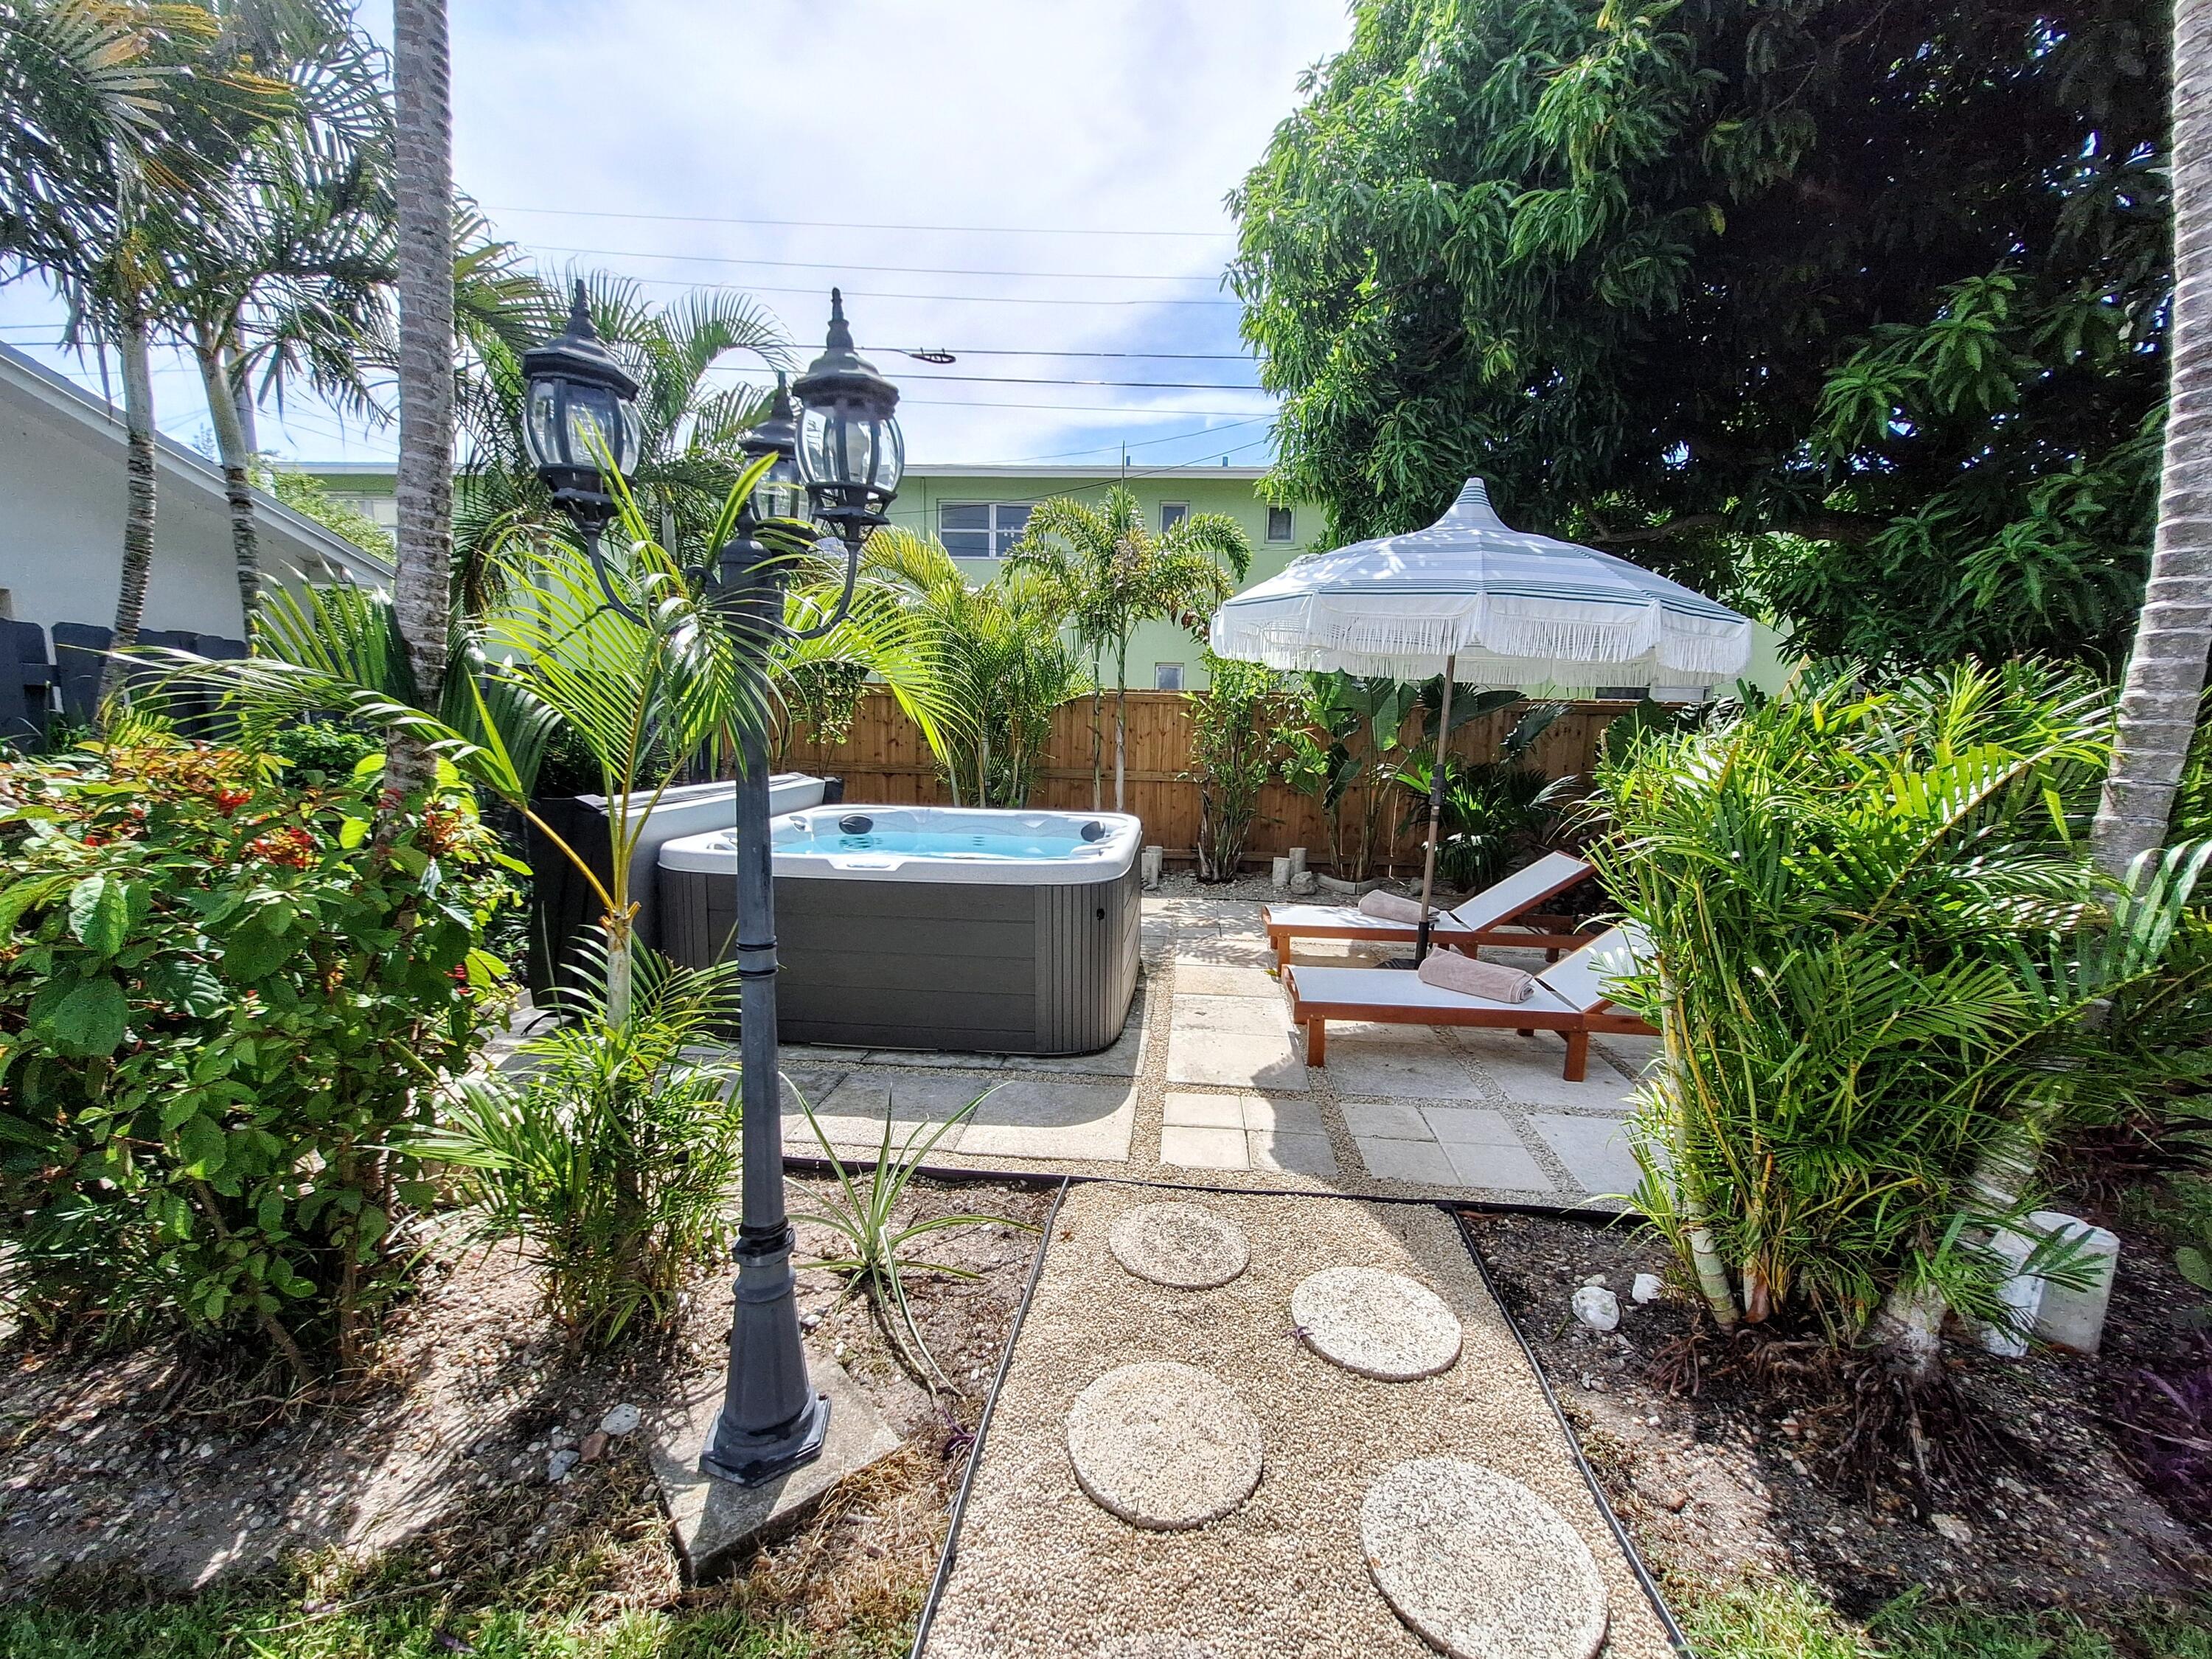
[[[794,1175],[792,1212],[821,1206],[827,1186]],[[909,1190],[918,1217],[1035,1225],[1048,1206],[1048,1186]],[[832,1245],[801,1225],[801,1259]],[[914,1376],[860,1296],[841,1301],[830,1274],[801,1272],[810,1343],[838,1354],[907,1444],[723,1590],[681,1586],[637,1436],[597,1425],[721,1367],[726,1272],[699,1276],[672,1336],[571,1354],[513,1250],[453,1252],[389,1323],[376,1371],[314,1400],[173,1343],[73,1352],[15,1336],[0,1352],[0,1595],[111,1577],[188,1590],[279,1559],[389,1551],[449,1584],[588,1551],[611,1615],[739,1597],[823,1632],[911,1619],[1035,1245],[1002,1225],[929,1239],[927,1254],[980,1274],[918,1274],[909,1287],[947,1383]]]

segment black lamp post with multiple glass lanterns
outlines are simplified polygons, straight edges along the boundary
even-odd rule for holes
[[[606,358],[606,349],[597,347],[591,336],[591,319],[582,316],[582,303],[580,285],[577,314],[568,323],[568,334],[524,358],[524,372],[531,374],[533,418],[540,407],[540,380],[531,363],[544,367],[546,420],[553,434],[566,434],[560,418],[564,409],[595,407],[588,403],[593,387],[615,389],[628,383],[626,396],[637,392],[635,380],[628,380],[622,367]],[[604,369],[597,363],[591,365],[591,374],[597,378],[580,374],[591,363],[584,347],[597,347],[606,363]],[[622,383],[608,378],[608,369],[622,376]],[[586,389],[582,398],[577,387]],[[830,290],[830,341],[794,389],[801,398],[796,425],[790,396],[779,383],[770,416],[743,440],[754,460],[774,453],[779,462],[754,487],[739,515],[737,535],[714,555],[726,624],[741,639],[752,641],[750,648],[741,650],[754,690],[752,712],[768,708],[770,639],[779,633],[816,639],[845,617],[860,544],[874,526],[885,522],[883,509],[898,493],[898,480],[905,471],[905,440],[894,416],[898,389],[854,354],[852,330],[845,327],[845,301],[836,290]],[[617,398],[619,403],[622,398]],[[628,429],[635,434],[635,416],[628,416]],[[635,453],[635,436],[630,445]],[[577,449],[584,447],[577,445]],[[619,460],[622,451],[613,442],[608,449]],[[597,511],[597,524],[604,524],[613,511],[613,502],[599,489],[604,480],[595,467],[588,480],[571,476],[566,467],[573,451],[568,449],[562,449],[555,462],[546,460],[551,453],[551,447],[540,453],[538,440],[531,440],[540,476],[553,489],[555,500],[575,515],[577,526],[586,529],[597,562],[597,533],[591,526],[591,515]],[[783,624],[785,562],[759,540],[757,531],[763,518],[799,515],[801,484],[812,515],[845,544],[845,588],[836,608],[821,624],[787,630]],[[597,502],[604,502],[604,509]],[[737,1316],[730,1323],[730,1376],[723,1387],[721,1416],[699,1453],[699,1469],[748,1486],[812,1462],[821,1455],[830,1433],[830,1396],[816,1394],[807,1380],[805,1347],[799,1338],[792,1223],[783,1208],[776,887],[768,830],[768,765],[763,721],[741,721],[737,973],[743,993],[739,1009],[739,1055],[743,1062],[739,1088],[745,1108],[743,1214],[737,1230]]]

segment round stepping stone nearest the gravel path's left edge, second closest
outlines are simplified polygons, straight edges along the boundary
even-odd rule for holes
[[[1135,1526],[1203,1526],[1259,1484],[1259,1422],[1197,1365],[1124,1365],[1075,1396],[1068,1460],[1091,1502]]]

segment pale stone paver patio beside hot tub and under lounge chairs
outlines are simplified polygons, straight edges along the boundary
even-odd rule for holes
[[[894,1146],[969,1102],[929,1161],[1378,1197],[1617,1208],[1637,1186],[1624,1119],[1648,1037],[1601,1037],[1566,1082],[1555,1035],[1329,1024],[1310,1068],[1267,971],[1256,902],[1144,900],[1144,982],[1097,1055],[785,1048],[785,1146],[818,1150],[792,1091],[841,1152]],[[1498,960],[1540,967],[1528,951]],[[1316,942],[1296,960],[1358,964]]]

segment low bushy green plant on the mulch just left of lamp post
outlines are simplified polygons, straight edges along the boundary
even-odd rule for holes
[[[604,936],[599,936],[604,940]],[[743,1115],[737,962],[684,969],[639,949],[628,1020],[608,1013],[606,947],[573,1018],[522,1046],[513,1075],[462,1091],[440,1152],[469,1170],[482,1230],[520,1239],[549,1312],[577,1343],[664,1323],[692,1267],[730,1243]]]

